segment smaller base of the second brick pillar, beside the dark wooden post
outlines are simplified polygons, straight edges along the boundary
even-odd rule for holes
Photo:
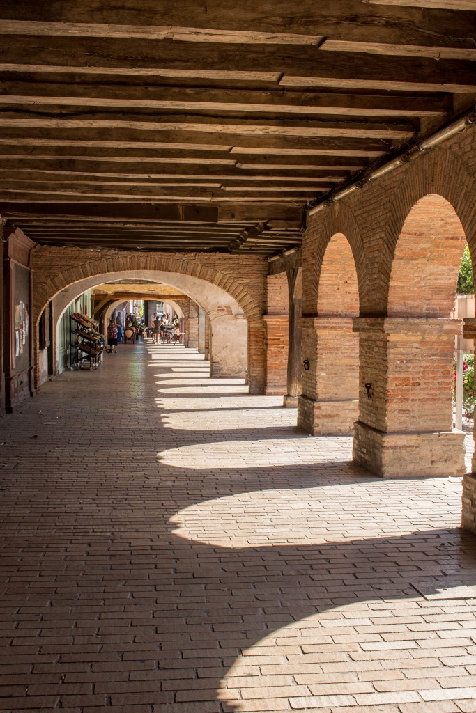
[[[298,426],[313,436],[350,436],[358,418],[359,402],[314,401],[298,398]]]

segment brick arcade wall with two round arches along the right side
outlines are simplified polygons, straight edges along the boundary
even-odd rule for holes
[[[339,394],[330,379],[354,366],[361,426],[355,458],[380,475],[382,434],[399,436],[405,471],[405,434],[452,429],[453,340],[460,324],[449,319],[466,242],[473,264],[476,258],[475,149],[471,128],[413,155],[410,163],[311,217],[303,235],[302,347],[310,371],[303,371],[299,422],[318,433],[323,402],[343,398],[343,414],[353,409],[350,394]],[[338,326],[333,339],[315,321],[357,314],[358,349],[350,333],[338,349]],[[450,440],[440,438],[440,450]],[[420,437],[420,445],[410,441],[408,435],[408,465],[421,455],[422,468],[434,472],[438,441],[430,435]],[[459,473],[460,439],[451,442],[451,463],[447,453],[442,461]]]

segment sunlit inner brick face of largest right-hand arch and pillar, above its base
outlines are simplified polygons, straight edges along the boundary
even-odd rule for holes
[[[425,196],[407,215],[390,274],[388,316],[407,317],[412,333],[407,359],[401,340],[393,343],[400,358],[388,377],[391,430],[452,429],[453,335],[461,326],[450,318],[465,244],[459,217],[440,195]]]

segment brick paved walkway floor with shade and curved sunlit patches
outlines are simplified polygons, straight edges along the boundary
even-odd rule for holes
[[[206,373],[126,345],[0,422],[0,709],[476,712],[460,481]]]

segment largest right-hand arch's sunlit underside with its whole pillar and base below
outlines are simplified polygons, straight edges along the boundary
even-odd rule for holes
[[[452,319],[466,236],[450,202],[417,200],[397,237],[388,317],[364,342],[372,385],[360,407],[357,459],[381,476],[465,471],[464,434],[452,427],[455,334]],[[375,325],[374,325],[375,327]],[[369,349],[372,349],[370,352]]]

